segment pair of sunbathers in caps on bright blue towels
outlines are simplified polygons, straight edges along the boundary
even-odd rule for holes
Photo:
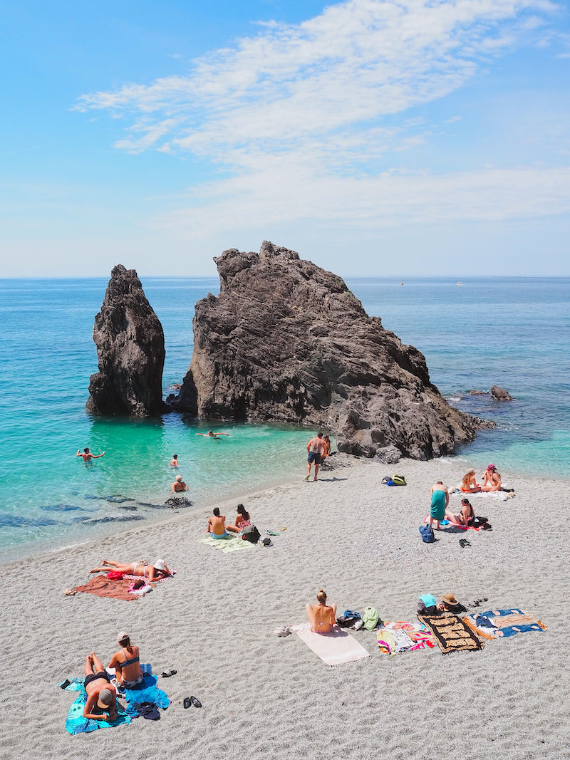
[[[131,644],[128,633],[121,631],[117,636],[117,643],[120,650],[113,654],[109,661],[109,670],[115,668],[115,683],[95,652],[85,657],[84,689],[87,692],[87,701],[83,717],[112,723],[117,716],[117,691],[133,689],[143,679],[138,647]]]

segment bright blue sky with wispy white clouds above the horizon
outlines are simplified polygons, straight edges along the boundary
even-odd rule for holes
[[[0,0],[0,277],[570,274],[570,7]]]

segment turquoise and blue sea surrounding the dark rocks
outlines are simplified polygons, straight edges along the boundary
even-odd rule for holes
[[[219,282],[141,280],[164,328],[166,396],[190,363],[195,302],[217,294]],[[492,462],[499,471],[570,480],[570,278],[346,282],[369,315],[423,352],[450,404],[496,422],[459,449],[466,467]],[[106,283],[0,280],[0,560],[168,518],[176,512],[164,503],[176,473],[188,484],[190,508],[306,473],[312,430],[176,413],[157,420],[88,415],[89,378],[97,372],[93,318]],[[492,385],[507,388],[513,401],[470,394]],[[229,436],[196,435],[208,429]],[[105,456],[84,464],[76,452],[85,446]]]

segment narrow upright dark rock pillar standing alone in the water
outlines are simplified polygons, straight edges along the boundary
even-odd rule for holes
[[[88,412],[149,416],[166,410],[163,328],[134,269],[113,268],[93,340],[99,372],[91,375]]]

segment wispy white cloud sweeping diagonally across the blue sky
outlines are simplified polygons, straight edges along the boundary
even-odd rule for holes
[[[86,94],[77,107],[130,116],[116,142],[122,150],[188,151],[230,173],[192,188],[188,207],[161,224],[382,224],[403,211],[410,220],[502,218],[525,193],[526,213],[559,213],[568,210],[563,171],[387,171],[399,151],[426,139],[423,125],[404,116],[394,126],[394,115],[461,87],[555,8],[547,0],[349,0],[302,24],[262,24],[185,76]],[[537,200],[537,188],[552,192]]]

